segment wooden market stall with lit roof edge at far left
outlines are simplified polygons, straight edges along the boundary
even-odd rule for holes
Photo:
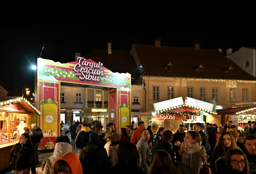
[[[41,114],[23,97],[0,98],[0,171],[9,166],[9,154],[31,120]]]

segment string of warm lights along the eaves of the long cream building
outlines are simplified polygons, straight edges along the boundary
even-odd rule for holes
[[[255,80],[224,80],[224,79],[194,79],[194,78],[173,78],[173,77],[143,77],[144,80],[168,80],[176,83],[176,86],[180,86],[180,80],[182,86],[187,86],[188,82],[219,82],[226,83],[226,87],[236,88],[237,83],[256,83]]]

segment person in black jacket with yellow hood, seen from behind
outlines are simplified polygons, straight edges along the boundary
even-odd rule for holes
[[[81,151],[86,143],[89,142],[89,135],[91,131],[86,123],[82,124],[82,129],[76,137],[76,147]]]

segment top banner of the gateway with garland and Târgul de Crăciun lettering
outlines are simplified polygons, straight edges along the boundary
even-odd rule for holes
[[[78,61],[59,63],[38,58],[38,78],[45,76],[55,78],[60,82],[89,84],[130,90],[131,75],[129,73],[112,72],[103,67],[101,62],[78,57]],[[106,61],[106,60],[104,60]]]

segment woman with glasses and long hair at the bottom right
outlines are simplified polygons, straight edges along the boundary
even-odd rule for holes
[[[246,155],[240,149],[229,149],[225,157],[221,157],[215,162],[216,170],[223,168],[237,169],[243,174],[251,174]]]

